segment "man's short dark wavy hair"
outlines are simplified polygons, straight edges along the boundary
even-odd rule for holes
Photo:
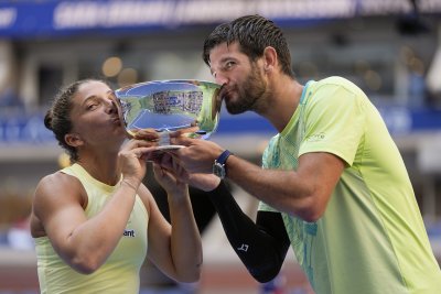
[[[219,24],[207,36],[204,43],[203,59],[209,66],[209,52],[217,45],[238,42],[240,51],[251,62],[263,55],[263,50],[271,46],[276,50],[281,70],[294,77],[291,68],[291,54],[287,40],[271,20],[260,15],[246,15],[232,22]]]

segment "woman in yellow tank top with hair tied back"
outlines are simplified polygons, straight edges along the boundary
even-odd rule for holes
[[[187,186],[153,164],[168,193],[170,225],[141,183],[154,148],[146,140],[123,144],[109,86],[72,84],[55,98],[45,126],[73,164],[35,190],[31,232],[41,292],[139,293],[146,254],[172,279],[197,281],[202,244]],[[170,156],[162,161],[173,165]]]

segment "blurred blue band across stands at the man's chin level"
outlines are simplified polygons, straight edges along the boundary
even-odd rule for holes
[[[421,131],[441,132],[440,109],[409,109],[406,107],[379,108],[392,134],[410,134]],[[54,137],[43,123],[43,110],[26,112],[21,109],[0,111],[0,144],[52,143]],[[223,109],[216,134],[271,134],[273,127],[254,112],[232,116]]]

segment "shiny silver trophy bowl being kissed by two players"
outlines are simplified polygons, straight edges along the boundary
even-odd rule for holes
[[[130,137],[140,130],[159,135],[160,149],[170,144],[170,132],[207,140],[217,129],[220,85],[205,80],[152,80],[115,91],[119,117]]]

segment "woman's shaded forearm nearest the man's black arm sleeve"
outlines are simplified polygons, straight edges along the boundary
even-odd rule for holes
[[[151,194],[142,187],[150,208],[148,255],[172,279],[195,282],[201,275],[202,242],[193,216],[189,187],[165,168],[157,164],[153,167],[157,181],[168,193],[171,225],[160,213]]]

